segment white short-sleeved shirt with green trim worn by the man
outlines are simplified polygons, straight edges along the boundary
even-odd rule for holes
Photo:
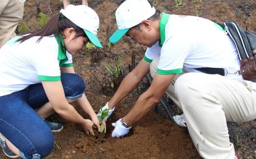
[[[181,73],[182,69],[199,72],[195,68],[240,70],[236,46],[231,38],[216,23],[194,16],[170,15],[162,47],[157,42],[147,48],[144,59],[150,62],[156,57],[159,57],[159,74]],[[227,77],[242,79],[238,74]]]

